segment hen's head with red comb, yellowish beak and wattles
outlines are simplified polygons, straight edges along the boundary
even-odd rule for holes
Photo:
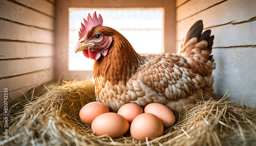
[[[94,60],[98,60],[101,55],[106,56],[112,43],[112,37],[95,31],[95,28],[102,26],[101,15],[99,14],[99,18],[97,18],[96,12],[94,12],[92,18],[89,13],[87,20],[83,19],[83,21],[84,25],[81,23],[79,42],[76,44],[75,53],[82,51],[84,56]]]

